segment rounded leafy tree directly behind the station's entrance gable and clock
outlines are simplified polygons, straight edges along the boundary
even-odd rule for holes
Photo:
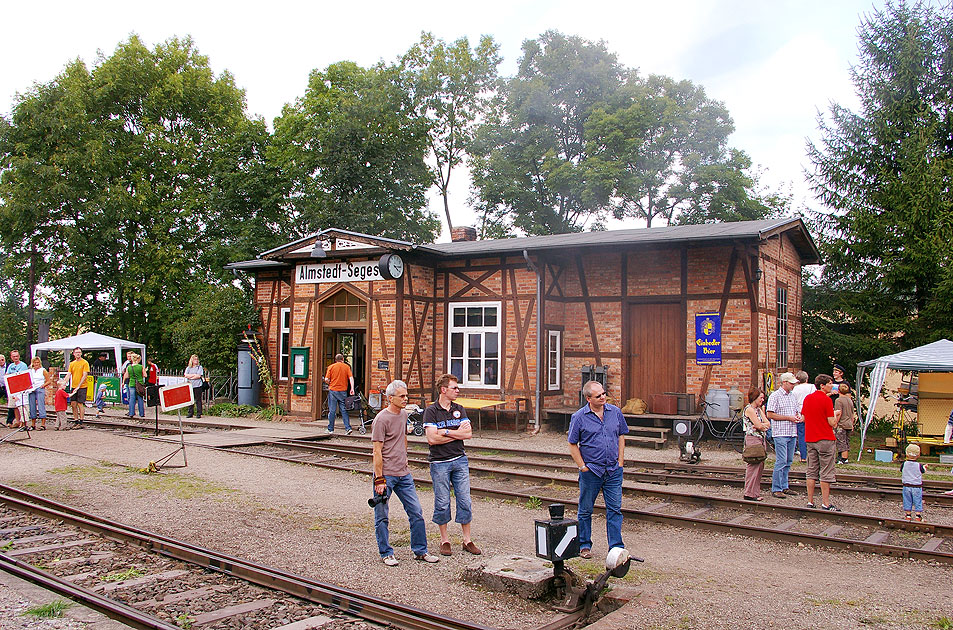
[[[305,95],[275,120],[269,159],[289,180],[304,231],[338,227],[431,242],[427,125],[398,69],[340,62],[314,70]]]

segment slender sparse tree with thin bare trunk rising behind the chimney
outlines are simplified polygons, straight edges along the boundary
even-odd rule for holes
[[[466,37],[447,44],[427,32],[401,59],[417,114],[427,121],[432,172],[443,198],[448,230],[453,229],[450,176],[473,143],[477,119],[486,110],[500,61],[499,46],[488,35],[471,49]]]

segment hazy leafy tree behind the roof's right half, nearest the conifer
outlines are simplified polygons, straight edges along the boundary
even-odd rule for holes
[[[643,219],[647,227],[656,217],[671,223],[681,212],[704,212],[706,201],[727,201],[720,189],[747,188],[740,181],[747,156],[726,159],[733,130],[728,110],[701,86],[630,73],[586,122],[593,196],[617,219]]]

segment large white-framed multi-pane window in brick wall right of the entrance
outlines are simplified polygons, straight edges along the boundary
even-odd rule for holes
[[[457,302],[448,315],[450,373],[464,387],[500,386],[500,302]]]

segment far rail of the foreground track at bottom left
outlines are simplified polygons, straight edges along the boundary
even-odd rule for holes
[[[46,518],[63,520],[112,540],[134,544],[377,623],[393,624],[409,630],[491,630],[481,624],[445,617],[123,525],[12,486],[0,484],[0,501]]]

